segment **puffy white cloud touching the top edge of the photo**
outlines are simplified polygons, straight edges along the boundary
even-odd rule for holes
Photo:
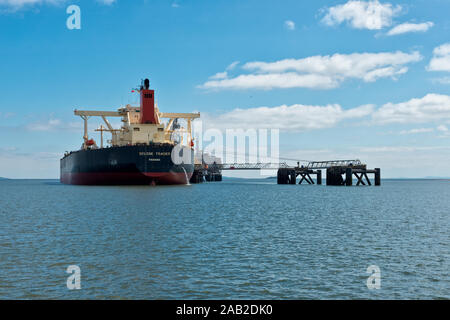
[[[348,1],[326,9],[322,21],[330,26],[343,22],[356,29],[380,30],[392,24],[392,18],[401,11],[401,6],[374,1]]]

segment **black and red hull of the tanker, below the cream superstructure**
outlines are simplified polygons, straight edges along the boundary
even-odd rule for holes
[[[171,144],[150,144],[71,152],[61,159],[60,181],[77,185],[187,184],[194,171],[194,152],[182,147],[182,164],[172,161]]]

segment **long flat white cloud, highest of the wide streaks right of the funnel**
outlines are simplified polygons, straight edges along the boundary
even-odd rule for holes
[[[338,87],[347,79],[373,82],[393,78],[408,71],[406,64],[422,59],[419,52],[352,53],[284,59],[276,62],[249,62],[243,69],[252,72],[234,78],[211,79],[203,89],[274,89]],[[217,74],[216,74],[217,75]]]

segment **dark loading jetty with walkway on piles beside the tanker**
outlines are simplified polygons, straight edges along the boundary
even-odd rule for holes
[[[380,168],[367,169],[360,160],[311,161],[296,166],[282,163],[232,163],[196,164],[191,183],[222,181],[224,170],[277,170],[277,184],[322,184],[322,171],[326,173],[328,186],[379,186]],[[373,175],[373,181],[369,175]],[[313,177],[315,176],[315,179]],[[355,179],[354,179],[355,178]],[[315,180],[315,181],[314,181]],[[355,183],[354,183],[355,182]]]

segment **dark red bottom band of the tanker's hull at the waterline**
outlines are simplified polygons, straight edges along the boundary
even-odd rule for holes
[[[77,185],[171,185],[188,184],[191,176],[184,172],[63,173],[60,181]]]

